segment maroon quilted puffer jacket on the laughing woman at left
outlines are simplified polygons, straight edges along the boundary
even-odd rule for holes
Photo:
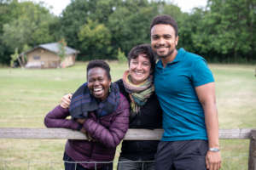
[[[84,122],[84,129],[90,133],[96,142],[88,140],[68,139],[65,151],[74,161],[112,161],[116,146],[125,137],[129,127],[129,103],[125,97],[120,94],[118,109],[108,116],[97,118],[94,113],[89,114],[89,118]],[[68,109],[56,106],[44,118],[46,127],[64,127],[76,130],[79,123],[71,119]],[[80,163],[85,168],[95,168],[94,163]],[[96,167],[102,167],[96,164]]]

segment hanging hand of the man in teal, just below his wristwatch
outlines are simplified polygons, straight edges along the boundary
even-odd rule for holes
[[[207,169],[218,170],[221,167],[220,151],[213,152],[208,150],[206,156]]]

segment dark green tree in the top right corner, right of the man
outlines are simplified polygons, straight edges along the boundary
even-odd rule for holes
[[[209,0],[208,8],[193,34],[195,47],[204,54],[215,56],[218,61],[253,59],[255,0]]]

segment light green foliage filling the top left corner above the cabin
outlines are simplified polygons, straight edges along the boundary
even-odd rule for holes
[[[0,53],[0,61],[10,60],[6,58],[8,51],[13,53],[15,48],[21,50],[25,44],[33,47],[55,40],[52,35],[55,31],[50,30],[50,26],[56,21],[55,16],[49,14],[43,3],[18,3],[16,0],[9,0],[0,3],[0,13],[0,44],[6,51]]]

